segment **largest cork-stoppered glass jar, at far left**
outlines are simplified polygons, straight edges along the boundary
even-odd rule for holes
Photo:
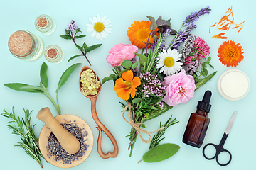
[[[28,30],[18,30],[8,41],[12,55],[22,60],[36,60],[43,52],[43,41]]]

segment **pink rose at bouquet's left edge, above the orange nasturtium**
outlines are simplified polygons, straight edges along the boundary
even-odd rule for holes
[[[134,52],[138,52],[138,47],[135,45],[124,45],[122,43],[114,45],[109,51],[107,56],[107,63],[112,66],[120,66],[124,60],[132,60],[136,55]]]

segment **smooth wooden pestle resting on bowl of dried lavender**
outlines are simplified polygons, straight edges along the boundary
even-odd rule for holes
[[[80,142],[78,139],[60,125],[60,123],[53,117],[53,114],[50,112],[48,107],[42,108],[38,111],[36,118],[41,120],[48,126],[48,128],[50,128],[66,152],[69,154],[75,154],[79,151]]]

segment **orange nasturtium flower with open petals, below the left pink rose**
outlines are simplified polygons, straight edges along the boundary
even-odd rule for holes
[[[124,81],[124,80],[125,81]],[[136,87],[141,84],[139,77],[133,77],[131,70],[128,70],[122,74],[122,78],[117,79],[114,84],[114,91],[117,91],[117,96],[122,98],[124,101],[131,97],[134,98]]]

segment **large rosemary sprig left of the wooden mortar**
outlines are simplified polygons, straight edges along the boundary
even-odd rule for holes
[[[4,113],[1,113],[2,116],[6,118],[10,118],[11,121],[9,121],[7,124],[7,127],[11,130],[13,130],[12,134],[16,134],[21,136],[22,142],[17,142],[18,145],[14,145],[15,147],[21,147],[24,149],[24,151],[31,156],[33,159],[38,162],[38,164],[43,168],[43,165],[41,163],[40,157],[43,157],[43,155],[40,152],[39,145],[38,145],[38,138],[36,137],[35,133],[33,132],[34,126],[31,125],[31,112],[24,109],[25,118],[16,118],[16,115],[14,113],[14,108],[12,108],[12,112],[8,113],[4,110]],[[25,132],[26,131],[26,132]]]

